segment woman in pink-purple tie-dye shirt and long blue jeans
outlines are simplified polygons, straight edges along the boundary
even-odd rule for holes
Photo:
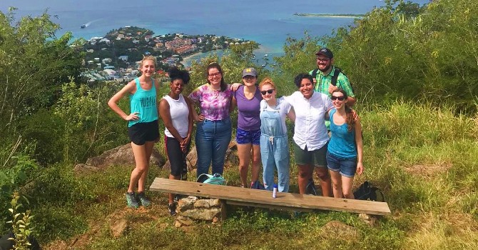
[[[225,151],[228,149],[232,128],[230,125],[230,104],[233,90],[240,84],[230,86],[223,79],[223,70],[218,63],[211,63],[206,69],[208,84],[199,86],[189,98],[199,106],[199,115],[193,109],[194,121],[197,121],[195,135],[198,152],[198,171],[208,174],[213,164],[213,174],[223,174]]]

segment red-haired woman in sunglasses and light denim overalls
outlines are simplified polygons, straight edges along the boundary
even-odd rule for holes
[[[285,116],[295,120],[292,106],[283,97],[276,99],[276,87],[269,78],[259,84],[260,94],[260,154],[263,161],[265,189],[272,191],[274,170],[278,170],[278,191],[289,191],[289,142]]]

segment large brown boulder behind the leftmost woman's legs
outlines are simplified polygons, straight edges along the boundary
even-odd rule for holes
[[[151,166],[163,166],[165,160],[161,156],[158,149],[153,148],[153,154],[151,154],[150,164]],[[100,156],[95,156],[86,161],[88,166],[96,166],[100,169],[106,168],[111,165],[131,165],[135,166],[133,150],[131,144],[125,144],[123,146],[117,146],[114,149],[104,151]]]

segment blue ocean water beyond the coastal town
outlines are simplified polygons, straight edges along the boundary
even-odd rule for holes
[[[424,4],[428,0],[415,0]],[[17,16],[37,16],[46,9],[60,24],[58,35],[71,31],[75,38],[103,36],[122,26],[140,26],[155,34],[215,34],[261,44],[258,57],[283,54],[288,36],[300,38],[331,34],[353,18],[295,16],[294,13],[365,14],[380,0],[1,0],[0,11],[15,6]],[[88,24],[81,29],[82,24]]]

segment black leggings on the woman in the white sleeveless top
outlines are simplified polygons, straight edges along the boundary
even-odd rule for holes
[[[186,155],[188,155],[190,141],[186,146],[186,151],[181,151],[179,141],[174,137],[164,136],[164,142],[166,144],[166,154],[168,154],[169,163],[171,164],[171,175],[180,176],[183,173],[183,169],[188,166],[186,162]]]

